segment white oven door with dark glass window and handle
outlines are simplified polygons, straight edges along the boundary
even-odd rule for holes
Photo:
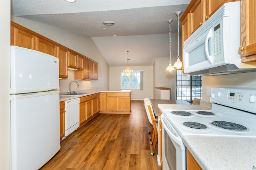
[[[170,122],[161,115],[163,170],[186,170],[186,146]]]

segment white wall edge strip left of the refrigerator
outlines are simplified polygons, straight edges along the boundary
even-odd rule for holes
[[[0,169],[10,169],[10,0],[0,5]]]

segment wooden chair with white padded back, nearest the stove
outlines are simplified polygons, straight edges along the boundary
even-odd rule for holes
[[[146,101],[144,103],[145,109],[146,109],[146,113],[148,115],[148,120],[150,122],[150,124],[152,125],[153,129],[151,132],[151,142],[150,144],[152,145],[152,152],[151,155],[154,156],[155,155],[155,149],[156,149],[156,143],[157,143],[157,138],[158,138],[158,120],[155,117],[155,114],[153,112],[152,109],[152,105],[150,103],[150,101]]]

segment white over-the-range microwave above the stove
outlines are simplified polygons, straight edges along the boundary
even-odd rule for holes
[[[241,62],[240,2],[219,8],[185,42],[184,72],[220,75],[256,71],[256,62]]]

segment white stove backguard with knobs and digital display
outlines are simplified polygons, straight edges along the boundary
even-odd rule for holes
[[[256,113],[256,89],[213,88],[210,101]]]

